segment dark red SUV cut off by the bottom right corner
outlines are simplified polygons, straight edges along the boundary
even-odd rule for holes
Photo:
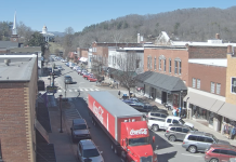
[[[232,145],[212,144],[205,151],[206,162],[227,162],[236,158],[236,147]]]

